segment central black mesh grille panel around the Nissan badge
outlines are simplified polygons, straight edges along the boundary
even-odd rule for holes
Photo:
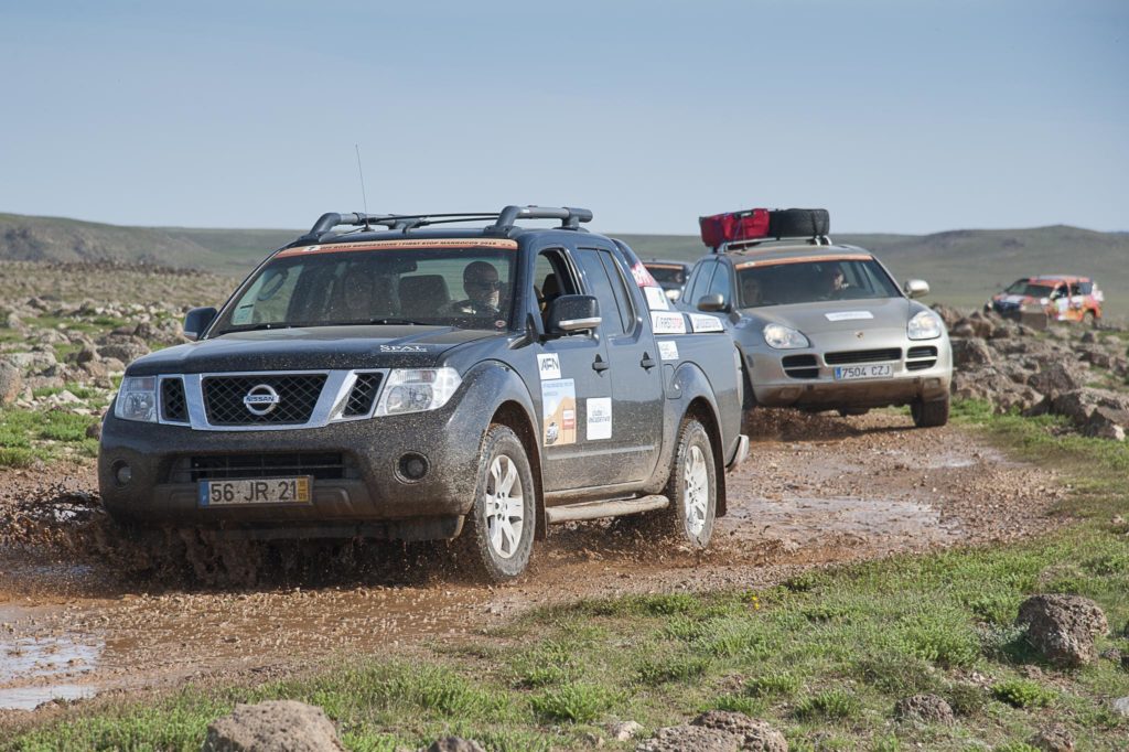
[[[243,399],[254,387],[270,386],[279,396],[266,414],[256,416]],[[264,374],[260,376],[209,376],[203,381],[204,408],[213,426],[255,423],[305,423],[322,394],[325,374]]]

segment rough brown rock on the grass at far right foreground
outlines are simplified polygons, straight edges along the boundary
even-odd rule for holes
[[[1094,659],[1094,638],[1109,630],[1096,603],[1079,595],[1033,595],[1019,605],[1016,626],[1051,663],[1077,666]]]

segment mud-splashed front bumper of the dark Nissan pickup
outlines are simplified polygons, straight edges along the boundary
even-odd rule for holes
[[[259,537],[288,537],[295,531],[303,536],[453,537],[473,504],[482,441],[481,416],[462,414],[460,406],[270,431],[193,430],[120,420],[111,412],[103,426],[98,484],[116,519],[141,526],[239,528]],[[409,453],[427,460],[428,472],[419,480],[401,472]],[[236,478],[247,478],[246,465],[262,457],[264,469],[251,476],[280,476],[304,471],[279,472],[272,465],[303,466],[314,455],[341,460],[327,475],[313,471],[308,505],[199,504],[201,480],[225,479],[226,471],[216,476],[208,467],[230,463],[240,467]],[[132,475],[125,483],[117,479],[122,463]]]

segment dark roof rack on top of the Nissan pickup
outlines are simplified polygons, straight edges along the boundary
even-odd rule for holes
[[[359,212],[342,215],[331,211],[318,217],[309,231],[299,237],[296,243],[320,242],[334,228],[341,226],[370,229],[373,225],[377,225],[391,230],[408,233],[408,230],[428,225],[489,221],[491,219],[495,220],[493,224],[485,227],[485,231],[490,235],[509,233],[518,219],[560,219],[560,229],[584,231],[580,222],[592,221],[592,210],[574,207],[519,207],[510,204],[501,211],[456,211],[430,215],[362,215]]]

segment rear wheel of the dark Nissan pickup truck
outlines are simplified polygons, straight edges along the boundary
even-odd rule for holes
[[[717,514],[717,469],[709,434],[693,418],[683,421],[679,430],[674,466],[664,493],[671,500],[660,513],[665,533],[694,549],[709,545]]]

